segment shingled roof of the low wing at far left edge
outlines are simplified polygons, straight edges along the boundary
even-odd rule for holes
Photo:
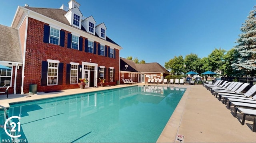
[[[0,61],[22,63],[18,29],[0,25]]]

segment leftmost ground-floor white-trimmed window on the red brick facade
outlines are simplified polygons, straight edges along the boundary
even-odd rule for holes
[[[58,79],[58,63],[48,62],[48,81],[47,85],[57,85]]]

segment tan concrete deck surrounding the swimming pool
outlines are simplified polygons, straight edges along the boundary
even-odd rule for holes
[[[135,85],[144,86],[151,84],[140,83]],[[166,86],[166,84],[163,85]],[[134,86],[134,84],[86,89],[77,88],[50,93],[10,94],[8,98],[6,98],[6,95],[1,95],[0,105],[8,107],[8,103],[11,102],[65,96],[127,86]],[[238,112],[238,118],[234,118],[232,110],[228,110],[226,105],[218,101],[218,99],[202,85],[172,84],[171,86],[185,87],[187,89],[157,142],[179,143],[180,141],[176,140],[178,134],[184,136],[184,143],[256,142],[256,133],[252,131],[252,117],[247,118],[245,124],[242,125],[242,115]]]

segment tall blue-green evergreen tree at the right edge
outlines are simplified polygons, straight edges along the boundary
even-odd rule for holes
[[[235,62],[232,64],[235,70],[239,70],[243,76],[254,76],[256,71],[256,6],[250,11],[237,39],[235,49]]]

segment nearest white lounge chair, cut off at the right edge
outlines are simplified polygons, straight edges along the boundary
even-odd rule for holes
[[[237,107],[236,111],[238,111],[241,114],[243,114],[242,125],[244,125],[246,115],[248,115],[248,116],[256,116],[256,110],[254,110],[254,109],[238,108]],[[252,131],[256,132],[256,118],[254,118],[254,121],[253,121]]]

